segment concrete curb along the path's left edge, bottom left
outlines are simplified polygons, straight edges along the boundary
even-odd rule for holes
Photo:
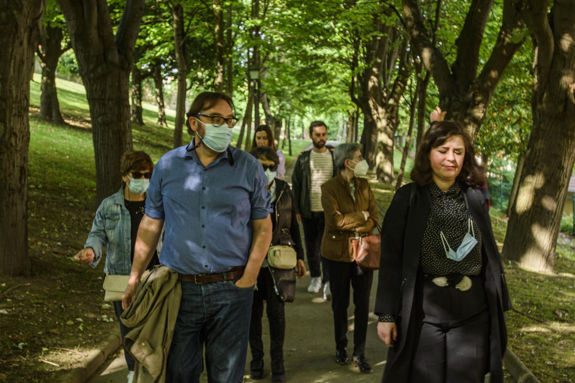
[[[81,362],[80,367],[68,371],[61,379],[62,383],[83,383],[93,374],[121,345],[120,329],[117,328],[112,335],[97,348],[91,350],[87,357]]]

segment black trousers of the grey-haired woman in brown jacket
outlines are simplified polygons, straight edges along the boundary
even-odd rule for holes
[[[325,259],[325,258],[324,258]],[[354,355],[365,354],[367,317],[369,316],[369,294],[373,271],[365,273],[355,262],[336,262],[325,259],[329,269],[329,288],[332,293],[333,328],[336,350],[347,347],[347,308],[350,306],[350,282],[354,289]]]

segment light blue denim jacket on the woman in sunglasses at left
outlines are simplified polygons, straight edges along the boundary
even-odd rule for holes
[[[147,193],[144,194],[147,197]],[[96,267],[102,258],[102,248],[106,245],[106,265],[104,273],[129,275],[132,270],[130,252],[132,241],[130,238],[130,213],[124,206],[124,187],[116,194],[105,198],[98,207],[92,229],[84,248],[94,250],[94,261],[91,267]],[[162,236],[158,242],[158,258],[162,249]]]

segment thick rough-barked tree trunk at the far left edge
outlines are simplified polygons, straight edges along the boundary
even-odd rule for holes
[[[0,275],[30,276],[28,108],[45,0],[0,5]]]

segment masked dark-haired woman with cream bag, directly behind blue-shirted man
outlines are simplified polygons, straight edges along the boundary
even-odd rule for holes
[[[274,212],[271,216],[271,246],[293,247],[297,255],[296,269],[275,269],[264,259],[258,275],[257,289],[250,323],[250,377],[263,378],[262,316],[263,301],[266,303],[267,319],[270,321],[271,381],[285,382],[283,368],[283,339],[285,338],[285,302],[294,299],[296,275],[305,277],[304,248],[301,245],[300,227],[293,210],[292,191],[287,182],[276,177],[279,159],[275,151],[267,146],[252,147],[250,154],[262,164],[266,173],[267,191],[271,194]]]

